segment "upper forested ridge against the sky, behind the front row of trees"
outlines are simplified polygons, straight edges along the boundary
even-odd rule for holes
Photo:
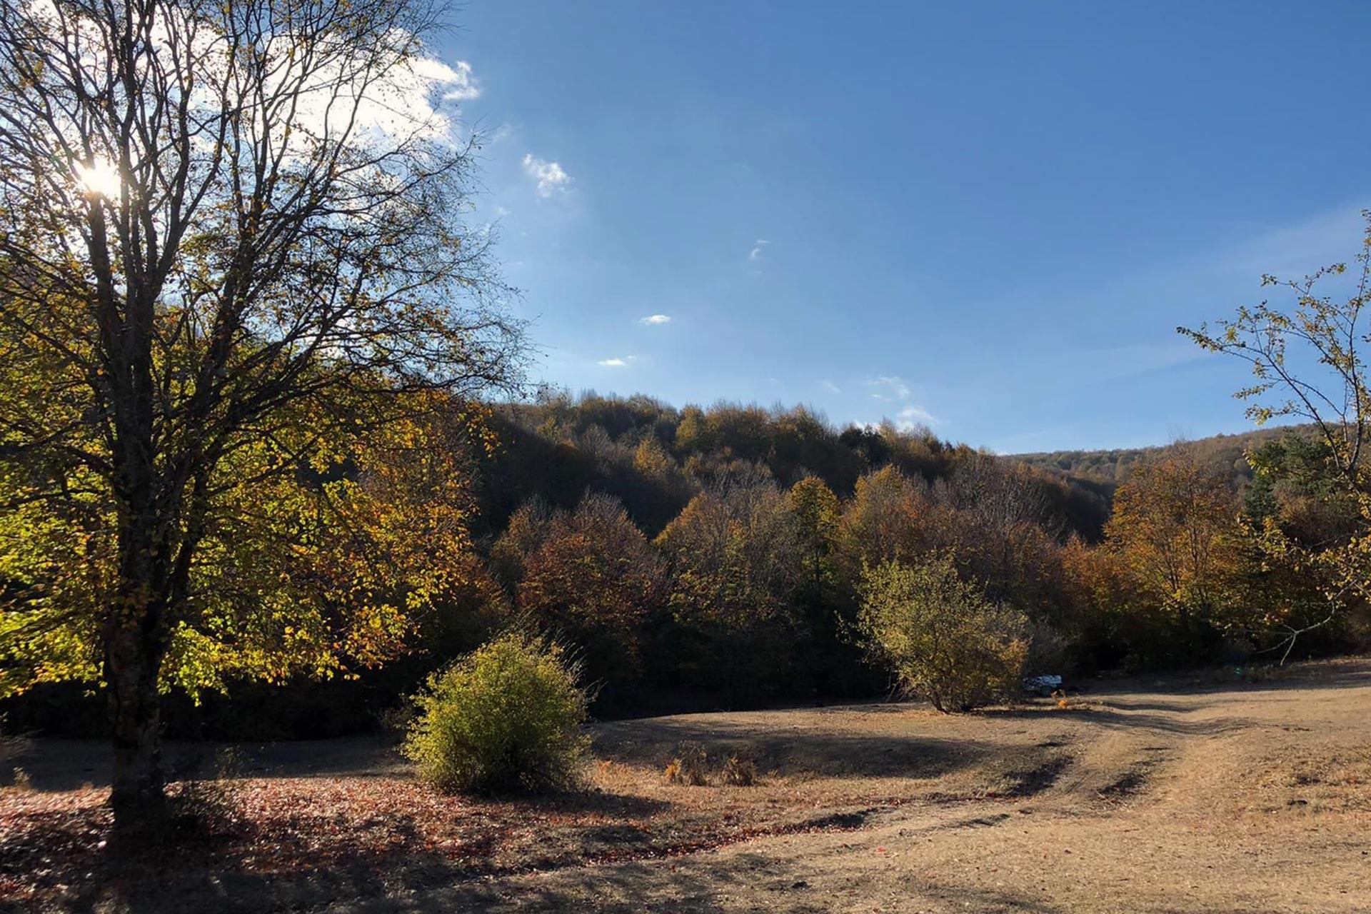
[[[648,536],[699,491],[761,475],[788,488],[813,475],[839,497],[886,466],[936,486],[990,455],[943,441],[927,428],[831,425],[805,408],[720,403],[675,408],[647,396],[554,393],[535,404],[495,408],[500,440],[481,474],[481,523],[499,529],[529,497],[572,507],[587,491],[622,502]],[[1021,480],[1043,503],[1043,522],[1098,540],[1109,517],[1112,480],[1031,463]]]

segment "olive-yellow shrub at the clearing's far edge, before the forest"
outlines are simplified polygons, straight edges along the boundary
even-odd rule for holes
[[[868,567],[862,595],[866,648],[939,711],[968,711],[1019,689],[1027,619],[962,581],[950,554]]]

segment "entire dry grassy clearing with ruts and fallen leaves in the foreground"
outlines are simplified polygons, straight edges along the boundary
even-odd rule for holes
[[[202,825],[103,845],[99,744],[12,741],[18,910],[1364,911],[1371,662],[1265,682],[1091,684],[943,717],[908,704],[602,724],[592,788],[444,798],[385,744],[174,745]],[[668,784],[683,741],[710,782]],[[754,787],[723,782],[755,758]],[[222,771],[210,778],[210,773]],[[203,822],[208,822],[206,828]]]

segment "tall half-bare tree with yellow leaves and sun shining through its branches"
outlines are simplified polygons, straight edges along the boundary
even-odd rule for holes
[[[411,465],[513,377],[518,329],[462,222],[469,86],[425,56],[437,25],[406,0],[0,5],[4,651],[96,645],[121,826],[162,806],[167,682],[381,659],[461,547],[451,467]],[[451,507],[387,510],[399,480]]]

